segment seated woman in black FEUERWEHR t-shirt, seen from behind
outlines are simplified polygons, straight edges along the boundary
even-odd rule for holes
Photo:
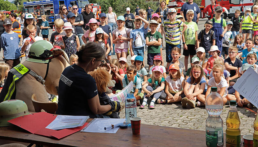
[[[112,101],[110,104],[100,105],[96,81],[88,74],[104,62],[104,50],[97,43],[89,42],[82,45],[76,54],[78,55],[77,63],[66,67],[61,74],[56,113],[109,118],[103,114],[108,111],[118,112],[120,103]],[[67,81],[70,82],[67,83]],[[75,95],[76,100],[72,100],[71,97]]]

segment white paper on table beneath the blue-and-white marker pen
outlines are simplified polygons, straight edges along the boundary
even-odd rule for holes
[[[81,132],[94,132],[94,133],[116,133],[119,127],[113,129],[104,130],[104,127],[109,127],[116,124],[121,124],[125,119],[93,119],[87,126],[85,126]]]

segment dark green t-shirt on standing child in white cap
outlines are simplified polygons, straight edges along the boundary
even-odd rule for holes
[[[151,32],[148,32],[146,34],[146,37],[149,38],[149,42],[151,41],[158,41],[159,38],[162,38],[162,35],[160,32],[156,31],[154,34],[151,34]],[[160,45],[150,45],[148,46],[148,53],[160,53]]]

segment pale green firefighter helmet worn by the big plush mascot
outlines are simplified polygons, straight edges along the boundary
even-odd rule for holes
[[[53,45],[46,40],[38,40],[29,48],[29,55],[26,61],[37,63],[48,63],[52,57]]]

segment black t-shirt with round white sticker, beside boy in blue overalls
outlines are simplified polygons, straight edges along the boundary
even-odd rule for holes
[[[205,29],[203,30],[203,38],[201,38],[201,32],[198,34],[198,40],[201,40],[200,47],[205,48],[205,53],[208,54],[208,51],[210,50],[210,47],[212,45],[212,40],[216,39],[215,32],[213,32],[212,38],[210,38],[211,30],[206,34]]]

